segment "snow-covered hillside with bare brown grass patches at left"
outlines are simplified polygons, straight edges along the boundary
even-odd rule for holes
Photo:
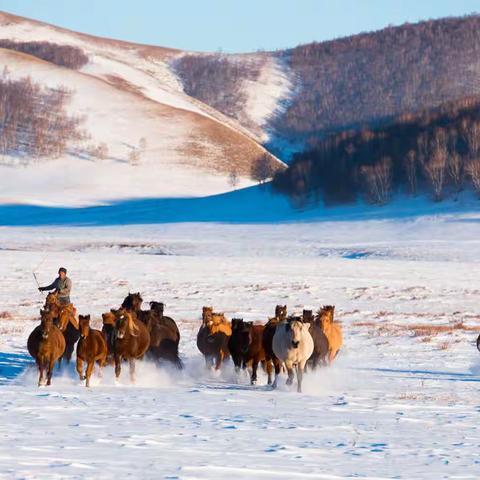
[[[204,196],[252,183],[253,162],[265,154],[262,132],[186,95],[171,61],[186,54],[70,32],[41,22],[0,14],[0,38],[51,42],[81,49],[88,63],[68,69],[13,50],[0,49],[0,69],[13,78],[26,76],[44,86],[68,88],[68,111],[84,117],[88,138],[60,159],[0,161],[0,203],[86,205],[135,197]],[[268,64],[268,69],[275,69]],[[268,83],[265,76],[260,82]],[[275,99],[257,103],[250,88],[252,115],[261,118]],[[129,155],[146,145],[132,166]],[[98,160],[89,146],[105,143]],[[85,153],[87,152],[87,153]],[[270,157],[273,164],[283,164]]]

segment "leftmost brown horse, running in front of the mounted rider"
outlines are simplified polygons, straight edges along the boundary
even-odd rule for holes
[[[53,314],[49,310],[41,310],[41,323],[28,337],[27,348],[30,355],[37,362],[40,376],[38,386],[44,383],[45,370],[47,371],[47,385],[52,382],[55,362],[65,351],[65,338],[62,332],[53,324]]]

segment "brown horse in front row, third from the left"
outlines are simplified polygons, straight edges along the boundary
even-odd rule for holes
[[[150,334],[143,322],[133,317],[125,308],[115,311],[114,359],[115,376],[121,373],[122,360],[130,366],[130,379],[135,381],[135,360],[142,358],[150,345]]]

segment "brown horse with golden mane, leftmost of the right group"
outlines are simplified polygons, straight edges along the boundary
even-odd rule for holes
[[[232,327],[223,313],[214,313],[212,307],[203,307],[202,325],[197,334],[197,347],[205,357],[208,367],[215,365],[219,370],[222,362],[230,355],[228,340]]]

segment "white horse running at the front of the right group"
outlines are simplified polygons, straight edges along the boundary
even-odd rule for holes
[[[309,327],[308,323],[300,320],[281,322],[273,336],[273,353],[287,368],[287,385],[293,383],[293,367],[297,371],[297,392],[302,391],[303,370],[313,352],[313,339],[308,331]],[[275,369],[273,388],[277,387],[279,370]]]

